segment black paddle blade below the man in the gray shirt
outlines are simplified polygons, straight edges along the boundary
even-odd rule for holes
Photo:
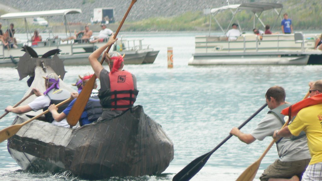
[[[196,175],[202,167],[206,164],[210,156],[212,155],[212,151],[200,156],[194,161],[190,162],[187,166],[185,166],[180,172],[175,174],[172,178],[172,181],[187,181],[190,180],[194,175]]]

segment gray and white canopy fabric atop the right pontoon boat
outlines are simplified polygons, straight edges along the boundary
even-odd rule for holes
[[[282,8],[283,5],[279,3],[243,3],[243,4],[236,4],[236,5],[227,5],[222,6],[219,8],[211,9],[211,13],[216,13],[217,11],[227,10],[227,9],[239,9],[239,10],[246,10],[251,11],[253,13],[256,12],[263,12],[270,9],[277,9]]]

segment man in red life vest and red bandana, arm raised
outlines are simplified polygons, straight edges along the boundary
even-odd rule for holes
[[[100,80],[99,100],[103,107],[103,113],[98,121],[118,115],[124,110],[132,107],[137,97],[137,80],[136,77],[123,69],[124,55],[118,52],[104,54],[102,58],[109,64],[109,70],[98,61],[104,50],[116,40],[111,36],[109,42],[94,51],[89,57],[96,76]]]

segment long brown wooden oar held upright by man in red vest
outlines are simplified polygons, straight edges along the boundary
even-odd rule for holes
[[[131,8],[132,8],[132,6],[134,5],[135,2],[137,2],[137,0],[132,0],[130,6],[128,7],[127,12],[125,13],[120,25],[118,26],[118,29],[116,30],[116,32],[114,34],[114,39],[118,35],[118,32],[120,31],[120,29],[121,29],[126,17],[128,16],[128,13],[130,12],[130,10],[131,10]],[[112,45],[110,45],[107,48],[107,50],[106,50],[106,52],[104,54],[109,52],[109,50],[111,49],[111,46]],[[103,64],[104,58],[102,58],[102,60],[100,62],[101,64]],[[86,103],[87,103],[88,99],[90,98],[90,93],[93,90],[95,79],[96,79],[96,75],[94,74],[90,78],[90,80],[88,80],[88,82],[85,84],[85,86],[83,87],[80,95],[77,97],[77,99],[75,101],[75,104],[73,105],[73,107],[71,108],[71,111],[69,112],[69,114],[67,116],[67,122],[68,122],[69,125],[75,126],[77,124],[78,120],[81,118],[81,114],[82,114],[83,110],[85,109]]]

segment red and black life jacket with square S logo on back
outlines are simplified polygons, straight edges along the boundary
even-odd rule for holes
[[[109,72],[109,89],[99,91],[103,108],[127,110],[136,101],[138,90],[134,89],[132,74],[128,71]]]

